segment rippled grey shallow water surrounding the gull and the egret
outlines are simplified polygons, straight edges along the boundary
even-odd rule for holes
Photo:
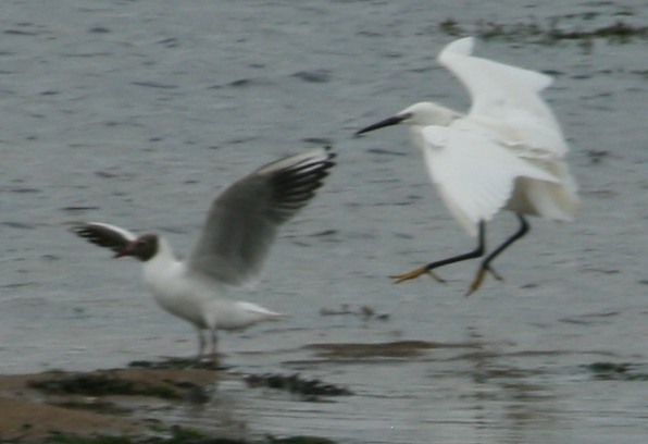
[[[191,355],[191,328],[154,306],[137,264],[63,224],[155,229],[187,251],[217,189],[331,143],[339,165],[283,231],[259,289],[241,295],[292,318],[224,335],[230,368],[214,400],[171,415],[236,435],[358,443],[645,442],[646,40],[548,45],[528,29],[646,26],[646,10],[497,4],[4,2],[0,371]],[[572,224],[534,220],[498,261],[507,281],[468,299],[475,264],[439,272],[446,285],[386,278],[471,240],[402,128],[351,137],[418,100],[468,106],[435,61],[453,38],[439,26],[448,18],[470,34],[500,25],[477,54],[556,76],[546,97],[584,199]],[[512,219],[498,217],[490,235],[506,236]],[[321,314],[345,306],[387,319]],[[637,378],[599,378],[596,362],[636,365]],[[299,372],[356,394],[304,403],[246,388],[250,372]]]

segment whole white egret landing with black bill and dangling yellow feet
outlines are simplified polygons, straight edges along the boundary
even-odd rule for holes
[[[502,209],[515,212],[520,231],[484,259],[472,293],[484,272],[493,271],[490,261],[526,233],[523,214],[571,221],[578,207],[576,184],[564,162],[569,146],[539,95],[551,77],[474,57],[473,45],[471,37],[456,40],[438,57],[469,90],[468,114],[420,102],[358,132],[408,124],[445,205],[469,234],[479,235],[474,251],[395,276],[398,282],[483,256],[485,222]]]

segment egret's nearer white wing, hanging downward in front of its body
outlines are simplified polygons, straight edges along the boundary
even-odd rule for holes
[[[490,220],[504,207],[516,177],[559,182],[551,173],[479,134],[426,126],[422,135],[432,182],[452,215],[472,236],[476,236],[479,221]]]

